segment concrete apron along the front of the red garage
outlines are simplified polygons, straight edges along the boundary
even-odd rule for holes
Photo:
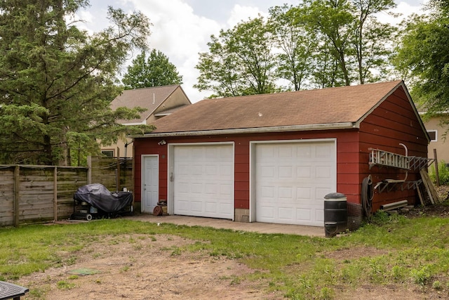
[[[136,214],[126,219],[152,223],[172,223],[186,226],[203,226],[217,229],[231,229],[236,231],[249,231],[255,233],[283,233],[288,235],[305,235],[311,237],[325,237],[323,227],[300,226],[275,223],[242,223],[225,219],[203,218],[196,216],[154,216],[152,214]]]

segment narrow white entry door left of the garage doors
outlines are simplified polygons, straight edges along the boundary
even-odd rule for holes
[[[142,212],[151,214],[159,202],[159,157],[142,157]]]

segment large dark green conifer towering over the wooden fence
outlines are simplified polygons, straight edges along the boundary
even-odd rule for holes
[[[69,164],[70,147],[99,150],[97,140],[116,140],[128,128],[117,119],[119,67],[130,48],[145,48],[149,21],[109,7],[112,25],[88,35],[67,16],[87,0],[0,3],[0,161]],[[147,130],[147,129],[144,129]]]

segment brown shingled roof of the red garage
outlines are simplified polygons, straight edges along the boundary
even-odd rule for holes
[[[157,120],[144,136],[354,128],[400,86],[411,102],[401,80],[201,100]]]

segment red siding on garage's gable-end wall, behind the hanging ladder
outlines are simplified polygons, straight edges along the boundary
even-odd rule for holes
[[[408,148],[409,156],[427,157],[427,138],[417,119],[413,107],[410,105],[403,89],[396,90],[389,98],[377,107],[360,126],[360,182],[368,175],[373,178],[373,185],[384,179],[406,178],[406,171],[389,167],[368,166],[370,151],[375,148],[405,155],[405,149],[399,145],[403,143]],[[419,171],[408,171],[407,181],[420,178]],[[375,190],[373,210],[382,204],[408,200],[415,204],[415,190],[401,190],[401,186],[389,192],[379,193]]]

